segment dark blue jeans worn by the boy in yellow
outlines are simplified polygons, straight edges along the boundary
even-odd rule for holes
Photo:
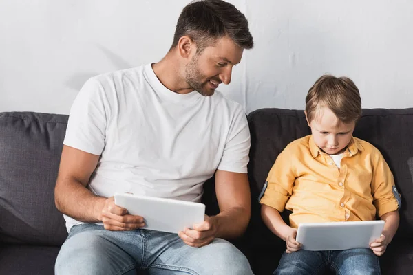
[[[380,274],[379,257],[368,248],[284,252],[273,275],[323,274],[326,270],[339,275]]]

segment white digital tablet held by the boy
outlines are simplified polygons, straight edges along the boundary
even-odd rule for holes
[[[300,223],[296,241],[303,250],[347,250],[370,248],[379,239],[384,221],[343,221],[332,223]]]

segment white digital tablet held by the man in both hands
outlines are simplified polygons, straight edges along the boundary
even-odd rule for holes
[[[178,233],[204,221],[205,205],[202,203],[128,193],[116,193],[114,197],[117,206],[126,208],[129,214],[143,217],[144,229]]]

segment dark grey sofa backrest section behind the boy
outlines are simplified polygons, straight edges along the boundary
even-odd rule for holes
[[[260,109],[248,115],[251,131],[248,177],[252,217],[248,228],[251,245],[273,247],[283,243],[260,218],[260,194],[278,154],[293,140],[310,134],[304,111]],[[413,232],[413,108],[363,109],[354,136],[376,146],[388,162],[401,193],[401,223],[396,238],[412,238]],[[284,217],[286,219],[286,217]],[[286,219],[288,221],[288,219]],[[285,244],[282,244],[285,250]]]

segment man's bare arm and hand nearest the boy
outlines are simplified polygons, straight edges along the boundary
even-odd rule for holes
[[[178,232],[187,245],[200,248],[215,238],[233,239],[246,230],[251,216],[248,175],[217,170],[215,192],[220,214],[206,217],[203,223],[195,224],[193,230],[185,228]]]

